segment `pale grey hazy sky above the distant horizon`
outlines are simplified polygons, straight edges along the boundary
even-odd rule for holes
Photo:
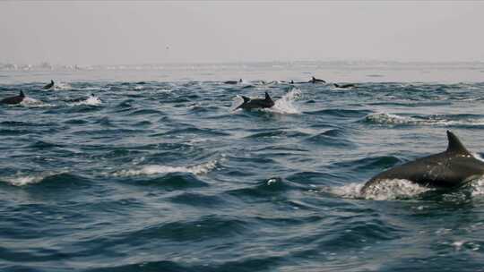
[[[484,61],[484,2],[0,2],[0,63]]]

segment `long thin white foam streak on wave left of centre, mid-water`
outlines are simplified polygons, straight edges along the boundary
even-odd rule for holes
[[[218,160],[212,160],[195,166],[143,166],[141,168],[121,170],[116,172],[115,176],[133,176],[133,175],[151,175],[164,173],[192,173],[192,174],[207,174],[214,169],[218,164]]]

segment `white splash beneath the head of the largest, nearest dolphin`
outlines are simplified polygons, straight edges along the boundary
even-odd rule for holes
[[[347,199],[365,200],[401,200],[416,197],[419,194],[432,190],[408,180],[394,179],[377,183],[367,188],[363,193],[364,183],[350,183],[340,187],[328,187],[324,191]]]

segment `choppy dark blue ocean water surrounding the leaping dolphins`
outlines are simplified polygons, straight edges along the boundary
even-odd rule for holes
[[[483,71],[4,65],[0,271],[484,271],[484,179],[359,193],[446,130],[484,156]],[[358,88],[281,82],[311,75]]]

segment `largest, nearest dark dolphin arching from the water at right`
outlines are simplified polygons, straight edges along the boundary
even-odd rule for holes
[[[484,162],[472,156],[453,132],[447,131],[447,149],[428,157],[395,166],[376,174],[361,188],[365,193],[372,186],[393,179],[404,179],[426,187],[452,188],[484,174]]]

